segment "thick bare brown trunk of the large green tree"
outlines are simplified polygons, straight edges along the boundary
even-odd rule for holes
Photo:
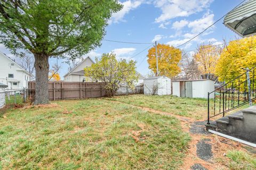
[[[34,54],[34,56],[36,70],[36,94],[34,104],[48,104],[49,56],[46,54]]]

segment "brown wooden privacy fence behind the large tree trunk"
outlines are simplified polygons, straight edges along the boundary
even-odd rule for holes
[[[63,99],[84,99],[106,96],[106,91],[102,83],[97,82],[58,82],[49,81],[49,100]],[[35,93],[36,83],[28,83],[30,95]]]

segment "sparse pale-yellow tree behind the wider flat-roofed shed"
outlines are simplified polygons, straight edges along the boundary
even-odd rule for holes
[[[198,64],[198,69],[202,74],[214,74],[217,61],[220,57],[222,48],[212,44],[201,45],[194,55]]]

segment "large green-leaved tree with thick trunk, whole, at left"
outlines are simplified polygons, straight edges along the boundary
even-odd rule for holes
[[[70,60],[100,46],[117,0],[0,0],[0,43],[35,57],[35,104],[49,103],[49,57]]]

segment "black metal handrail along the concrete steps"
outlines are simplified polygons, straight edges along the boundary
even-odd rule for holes
[[[210,124],[210,118],[218,115],[224,117],[227,112],[256,99],[255,69],[256,66],[248,69],[235,79],[208,93],[207,124]]]

